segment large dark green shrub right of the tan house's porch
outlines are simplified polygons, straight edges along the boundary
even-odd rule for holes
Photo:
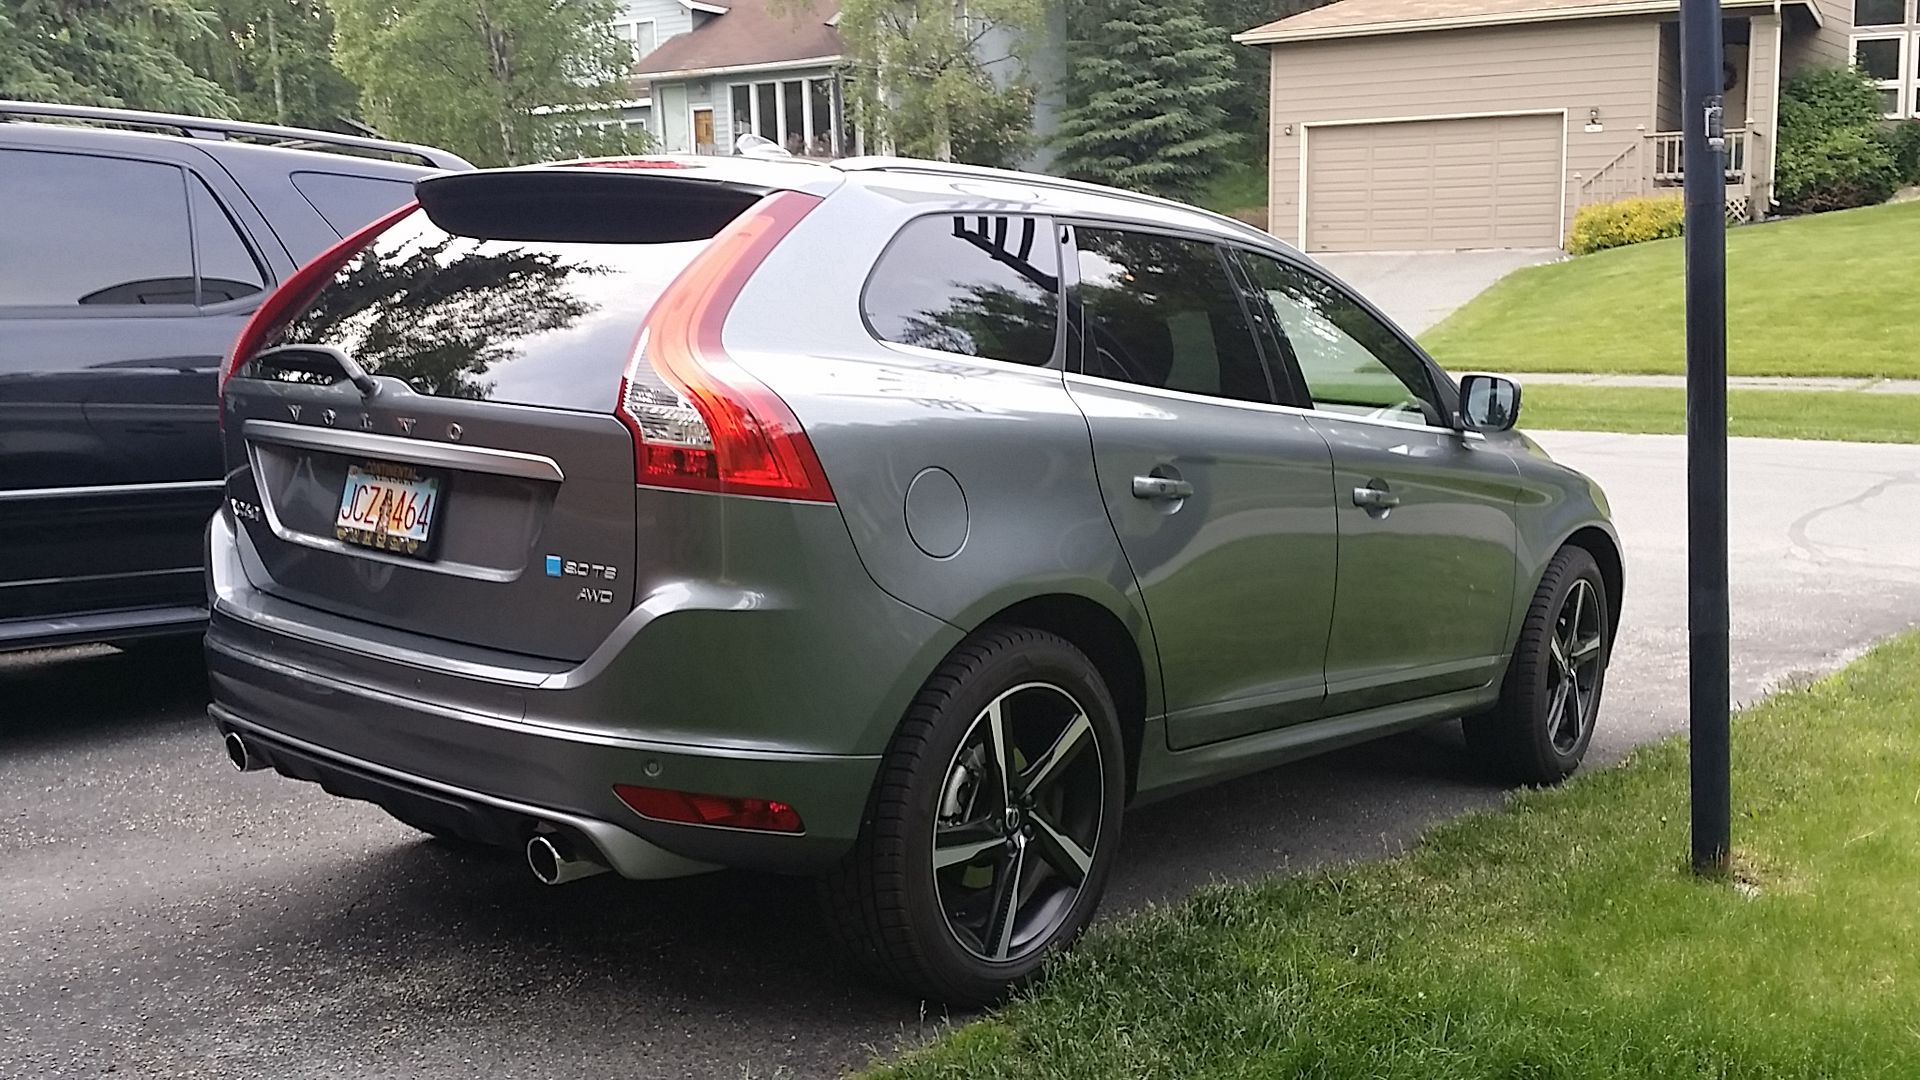
[[[1786,213],[1885,202],[1899,186],[1880,92],[1853,69],[1812,69],[1780,88],[1774,198]]]

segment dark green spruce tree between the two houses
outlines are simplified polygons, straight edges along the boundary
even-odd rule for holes
[[[1200,0],[1081,0],[1068,12],[1054,171],[1192,198],[1219,171],[1233,56]]]

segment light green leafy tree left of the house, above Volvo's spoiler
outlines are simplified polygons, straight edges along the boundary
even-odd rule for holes
[[[618,148],[580,123],[628,96],[616,0],[334,0],[336,61],[382,133],[476,165]],[[614,144],[614,146],[611,146]]]

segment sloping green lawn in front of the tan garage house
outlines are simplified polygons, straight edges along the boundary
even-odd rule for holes
[[[1747,225],[1726,234],[1734,375],[1920,377],[1920,202]],[[1423,336],[1469,371],[1680,373],[1680,240],[1503,279]]]

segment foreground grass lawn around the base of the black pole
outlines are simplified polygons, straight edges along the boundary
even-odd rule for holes
[[[1920,1076],[1920,636],[1738,717],[1734,763],[1736,882],[1684,869],[1665,742],[1396,859],[1116,922],[872,1076]]]

